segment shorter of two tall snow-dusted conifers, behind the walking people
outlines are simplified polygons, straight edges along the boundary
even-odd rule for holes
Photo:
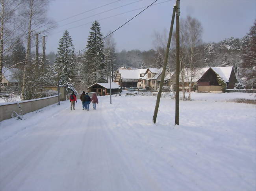
[[[57,67],[59,64],[59,81],[61,85],[67,86],[67,93],[74,91],[74,83],[71,80],[74,76],[76,63],[74,52],[72,38],[66,30],[63,37],[59,39],[58,56],[55,66]]]

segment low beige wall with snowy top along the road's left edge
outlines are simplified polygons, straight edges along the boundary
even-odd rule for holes
[[[50,97],[43,97],[39,99],[30,99],[26,101],[16,101],[12,103],[1,103],[0,104],[0,121],[5,119],[10,119],[11,114],[16,112],[20,114],[22,110],[23,114],[41,109],[48,105],[52,105],[58,102],[58,95],[50,96]],[[21,108],[19,108],[19,105]]]

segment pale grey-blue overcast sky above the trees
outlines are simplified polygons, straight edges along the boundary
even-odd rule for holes
[[[155,3],[158,5],[149,7],[113,34],[117,51],[154,48],[152,43],[154,31],[162,32],[165,28],[169,31],[171,24],[175,0],[165,1],[158,0]],[[115,3],[110,4],[112,2]],[[63,36],[65,29],[73,39],[75,51],[79,51],[85,48],[91,22],[99,20],[102,34],[105,36],[143,9],[132,10],[146,7],[152,2],[154,0],[53,0],[49,4],[48,17],[56,21],[58,26],[47,34],[46,53],[50,51],[57,53],[59,39]],[[109,5],[88,11],[106,4]],[[130,5],[124,6],[126,4]],[[119,8],[113,9],[116,7]],[[108,11],[109,9],[113,10]],[[85,11],[88,12],[83,13]],[[101,13],[104,11],[106,12]],[[111,17],[127,11],[132,12]],[[201,22],[204,29],[202,36],[204,42],[219,42],[230,37],[241,38],[249,32],[250,26],[256,19],[256,0],[181,0],[180,11],[181,18],[190,15]],[[77,15],[79,13],[83,14]],[[77,16],[72,17],[74,15]],[[63,20],[68,17],[72,18]],[[60,20],[63,21],[59,22]]]

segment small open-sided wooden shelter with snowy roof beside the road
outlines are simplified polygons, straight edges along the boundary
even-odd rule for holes
[[[95,92],[100,96],[110,95],[110,83],[95,83],[87,88],[89,92]],[[121,93],[121,87],[117,85],[115,82],[111,83],[111,94],[119,94]]]

